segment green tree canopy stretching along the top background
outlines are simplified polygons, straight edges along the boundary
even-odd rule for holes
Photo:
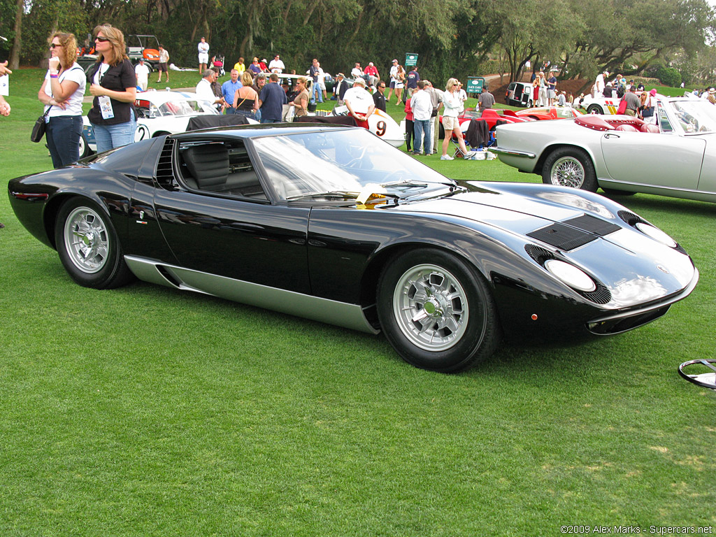
[[[180,66],[193,67],[203,36],[228,64],[281,54],[296,72],[314,57],[327,72],[357,61],[384,71],[417,53],[420,74],[438,82],[485,74],[491,53],[511,79],[546,60],[571,77],[638,74],[674,58],[697,64],[697,54],[712,57],[715,35],[707,0],[0,0],[15,64],[46,59],[56,29],[82,43],[105,22],[157,35]]]

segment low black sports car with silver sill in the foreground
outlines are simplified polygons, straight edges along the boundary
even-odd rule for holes
[[[226,127],[11,180],[72,278],[132,276],[351,329],[442,372],[500,334],[616,334],[698,280],[669,236],[607,198],[458,185],[364,129]]]

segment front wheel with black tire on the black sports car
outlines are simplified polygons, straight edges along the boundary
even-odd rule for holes
[[[463,371],[489,358],[500,342],[495,301],[483,276],[435,248],[408,251],[385,267],[377,310],[388,342],[422,369]]]

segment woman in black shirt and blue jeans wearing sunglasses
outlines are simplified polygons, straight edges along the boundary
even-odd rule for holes
[[[137,75],[125,54],[125,35],[110,24],[95,28],[97,63],[87,79],[95,96],[87,118],[97,140],[97,153],[134,142],[137,117]]]

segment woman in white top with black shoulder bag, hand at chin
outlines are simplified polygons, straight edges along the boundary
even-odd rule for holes
[[[52,165],[62,168],[79,158],[82,136],[82,97],[86,79],[77,59],[74,34],[55,32],[49,41],[49,69],[37,98],[45,105],[45,139]]]

